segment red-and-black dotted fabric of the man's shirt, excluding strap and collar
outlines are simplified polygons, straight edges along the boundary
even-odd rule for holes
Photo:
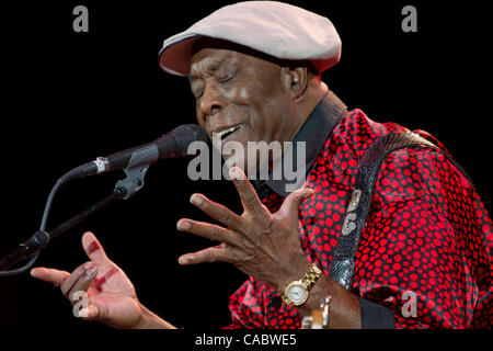
[[[409,132],[360,110],[342,118],[308,174],[301,247],[329,274],[359,161],[376,139]],[[423,131],[415,131],[444,146]],[[284,199],[263,199],[275,212]],[[394,310],[398,328],[491,328],[493,226],[477,192],[444,155],[400,149],[382,163],[355,256],[352,292]],[[227,328],[300,328],[296,308],[250,278],[230,298]]]

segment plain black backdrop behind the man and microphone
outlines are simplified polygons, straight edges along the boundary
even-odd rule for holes
[[[323,79],[349,109],[435,135],[468,170],[490,210],[488,11],[473,2],[429,2],[291,1],[328,16],[340,33],[342,60]],[[0,254],[38,228],[62,173],[195,123],[187,80],[161,71],[157,54],[164,38],[226,3],[2,4]],[[78,4],[89,9],[89,33],[72,31]],[[417,33],[401,30],[405,4],[417,9]],[[225,263],[180,267],[180,254],[210,242],[179,233],[175,223],[207,219],[188,204],[193,192],[237,212],[240,203],[227,181],[190,181],[186,165],[153,165],[142,191],[54,240],[37,265],[72,271],[87,261],[80,239],[92,230],[151,310],[185,328],[229,324],[228,297],[245,275]],[[68,183],[55,200],[48,229],[108,194],[122,176]],[[57,288],[28,273],[1,279],[0,302],[1,328],[107,328],[74,318]]]

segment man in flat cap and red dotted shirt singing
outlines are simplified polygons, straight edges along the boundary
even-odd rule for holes
[[[180,263],[229,262],[249,275],[227,328],[491,326],[492,223],[472,182],[426,132],[348,111],[321,81],[340,55],[328,19],[274,1],[221,8],[164,42],[159,64],[188,77],[210,138],[245,150],[303,143],[306,152],[294,191],[284,178],[254,179],[250,159],[232,167],[242,214],[193,194],[220,225],[182,218],[177,229],[220,245]],[[90,261],[72,273],[32,275],[73,304],[87,292],[84,319],[174,328],[140,304],[93,234],[82,245]]]

